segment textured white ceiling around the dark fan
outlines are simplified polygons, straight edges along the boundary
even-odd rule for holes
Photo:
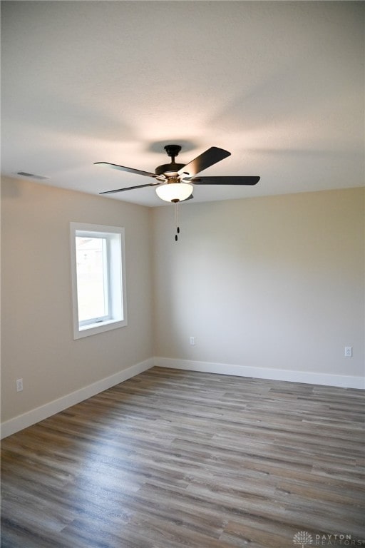
[[[87,193],[232,153],[195,202],[364,186],[361,1],[2,1],[1,173]],[[113,194],[163,205],[154,188]]]

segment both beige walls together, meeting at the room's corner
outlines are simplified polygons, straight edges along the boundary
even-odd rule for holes
[[[3,422],[153,355],[364,375],[364,188],[185,203],[178,243],[170,205],[1,191]],[[71,220],[125,227],[128,327],[73,340]]]

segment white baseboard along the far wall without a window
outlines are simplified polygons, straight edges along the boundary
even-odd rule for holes
[[[219,373],[220,375],[305,382],[310,385],[338,386],[343,388],[365,388],[364,377],[351,377],[349,375],[331,375],[330,373],[270,369],[269,367],[250,367],[248,365],[175,360],[172,357],[155,357],[154,363],[155,366],[158,367],[173,367],[174,369]]]

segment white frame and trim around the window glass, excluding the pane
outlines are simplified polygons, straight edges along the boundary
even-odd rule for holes
[[[127,325],[125,289],[125,233],[120,226],[70,223],[71,234],[71,280],[73,304],[73,338],[80,339]],[[106,241],[103,253],[106,259],[105,279],[108,285],[108,315],[90,320],[78,320],[76,237],[103,238]]]

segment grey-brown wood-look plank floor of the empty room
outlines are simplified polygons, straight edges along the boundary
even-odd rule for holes
[[[365,546],[364,409],[155,367],[2,442],[1,547]]]

